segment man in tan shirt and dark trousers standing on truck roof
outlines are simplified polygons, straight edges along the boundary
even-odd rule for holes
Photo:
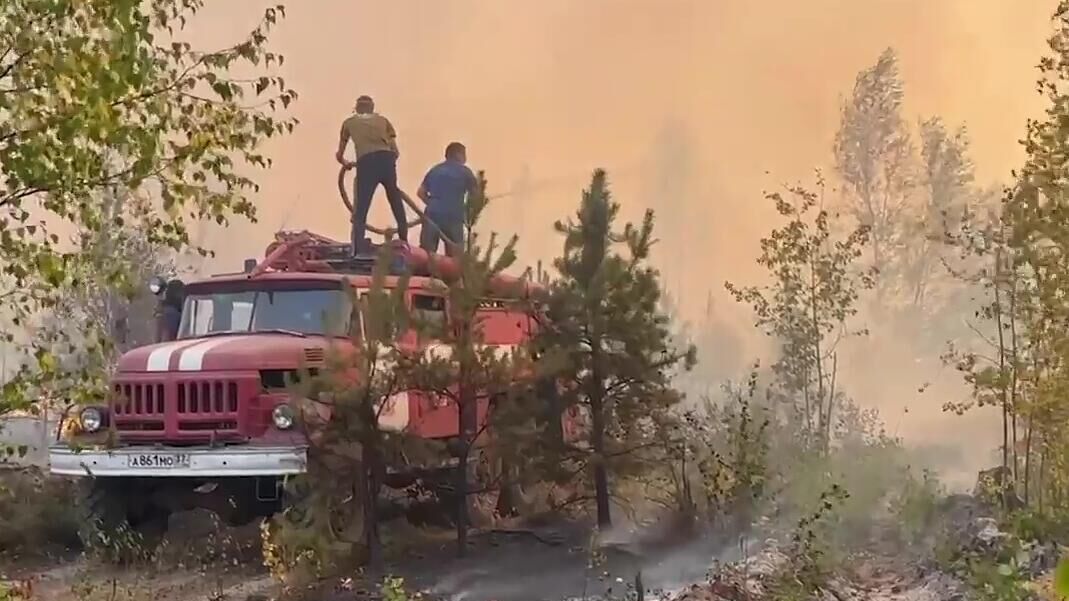
[[[408,226],[404,214],[404,201],[398,188],[398,142],[397,132],[388,119],[375,112],[371,96],[356,99],[356,113],[341,124],[338,152],[335,157],[346,168],[356,168],[356,199],[353,203],[353,252],[370,250],[365,241],[368,228],[368,212],[375,189],[382,184],[386,188],[386,199],[390,203],[393,218],[398,224],[398,237],[408,241]],[[345,160],[345,147],[353,142],[356,160]]]

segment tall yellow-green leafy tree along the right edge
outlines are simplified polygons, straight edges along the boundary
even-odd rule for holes
[[[972,217],[959,236],[974,259],[965,277],[982,284],[986,306],[973,324],[977,343],[949,354],[973,399],[946,406],[959,413],[977,405],[1001,409],[1002,467],[1011,475],[1002,500],[1007,509],[1025,504],[1041,511],[1060,510],[1069,491],[1069,429],[1062,417],[1069,382],[1069,2],[1058,3],[1054,22],[1037,87],[1048,108],[1042,119],[1028,122],[1016,185],[998,211]]]

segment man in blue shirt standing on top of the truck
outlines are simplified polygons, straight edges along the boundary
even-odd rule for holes
[[[416,192],[427,204],[427,217],[433,221],[424,222],[419,233],[419,246],[428,252],[438,251],[438,242],[443,236],[448,241],[446,252],[451,257],[464,248],[465,198],[476,194],[479,186],[475,173],[466,164],[467,149],[464,144],[450,143],[446,147],[446,159],[427,172]]]

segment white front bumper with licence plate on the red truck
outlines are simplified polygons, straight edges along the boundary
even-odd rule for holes
[[[285,476],[304,474],[305,447],[123,447],[75,450],[48,449],[52,474],[62,476],[125,476],[161,478]]]

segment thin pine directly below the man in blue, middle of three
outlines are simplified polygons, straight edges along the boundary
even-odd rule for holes
[[[503,436],[496,432],[500,415],[498,407],[509,397],[513,382],[523,371],[522,350],[501,352],[500,348],[485,344],[480,311],[492,298],[508,296],[495,290],[493,280],[515,263],[516,236],[499,246],[496,235],[490,235],[485,247],[475,227],[487,205],[486,182],[479,174],[478,192],[468,195],[467,235],[459,255],[458,277],[448,278],[438,290],[445,298],[448,320],[446,323],[423,323],[421,336],[444,352],[422,355],[408,370],[407,377],[414,388],[444,399],[458,409],[456,444],[452,452],[459,463],[452,494],[456,500],[458,554],[467,551],[468,527],[471,524],[471,502],[475,494],[485,492],[499,482],[481,481],[476,465],[486,462],[490,448],[487,430],[495,431],[494,440]],[[432,276],[438,276],[433,268]],[[486,403],[485,420],[479,422],[479,405]]]

